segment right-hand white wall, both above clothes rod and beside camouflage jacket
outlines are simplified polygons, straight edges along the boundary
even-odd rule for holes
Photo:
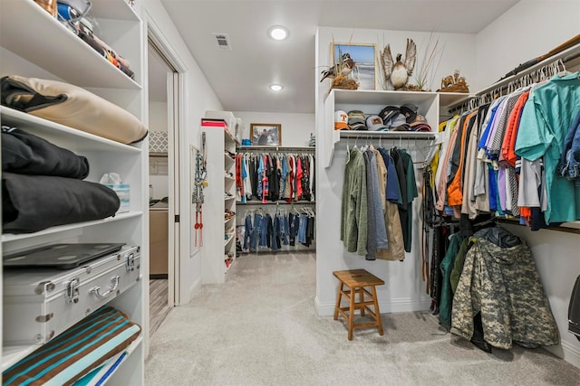
[[[548,52],[580,33],[580,1],[522,0],[489,24],[477,37],[478,82],[495,82],[519,63]],[[580,367],[580,342],[567,332],[567,311],[576,276],[580,275],[580,235],[529,231],[510,226],[529,243],[546,295],[556,317],[562,345],[548,348]]]

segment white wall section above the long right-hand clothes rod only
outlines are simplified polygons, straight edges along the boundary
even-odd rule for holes
[[[580,33],[580,1],[521,0],[477,36],[475,88],[483,89]]]

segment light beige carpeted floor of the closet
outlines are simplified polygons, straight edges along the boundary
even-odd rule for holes
[[[147,385],[579,385],[580,369],[545,350],[484,353],[429,312],[382,314],[347,340],[314,310],[315,255],[237,259],[153,334]]]

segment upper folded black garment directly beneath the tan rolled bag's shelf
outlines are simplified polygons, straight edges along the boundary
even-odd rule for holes
[[[16,127],[2,127],[2,170],[19,174],[84,179],[89,161]]]

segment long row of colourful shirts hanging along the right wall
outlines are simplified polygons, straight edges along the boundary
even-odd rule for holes
[[[560,71],[441,123],[436,208],[520,216],[533,230],[580,220],[579,114],[579,73]]]

